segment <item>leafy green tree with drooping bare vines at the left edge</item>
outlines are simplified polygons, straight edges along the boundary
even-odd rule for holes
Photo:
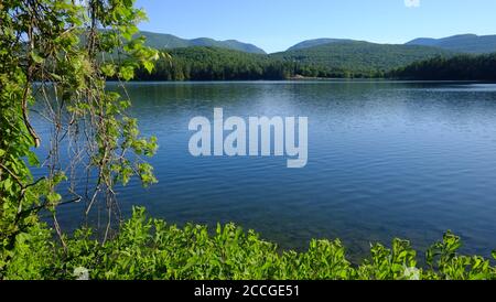
[[[43,241],[44,233],[40,238],[35,233],[42,209],[53,215],[63,241],[56,208],[84,197],[71,190],[58,192],[60,184],[72,183],[64,175],[72,164],[98,172],[95,194],[87,202],[104,199],[109,209],[117,181],[126,183],[132,175],[144,185],[157,181],[141,158],[154,153],[157,141],[142,138],[137,121],[126,116],[127,97],[105,89],[108,76],[131,79],[141,66],[151,72],[158,58],[143,39],[133,37],[137,23],[145,18],[133,4],[132,0],[0,2],[0,271],[15,268],[18,252],[28,257],[22,247]],[[34,103],[52,121],[54,133],[46,144],[51,145],[47,173],[37,180],[30,172],[39,164],[31,148],[41,143],[29,119]],[[63,139],[77,142],[87,161],[76,160],[69,168],[61,164],[57,145]],[[69,194],[76,196],[63,201]],[[17,273],[23,278],[28,272]]]

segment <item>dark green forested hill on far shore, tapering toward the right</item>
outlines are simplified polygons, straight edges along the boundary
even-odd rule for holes
[[[153,73],[137,72],[141,80],[254,80],[304,77],[344,77],[345,71],[218,47],[166,51]]]

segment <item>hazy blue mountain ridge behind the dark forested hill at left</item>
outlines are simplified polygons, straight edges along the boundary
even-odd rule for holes
[[[154,48],[184,48],[192,46],[212,46],[228,48],[245,53],[266,54],[266,52],[252,44],[242,43],[236,40],[217,41],[208,37],[181,39],[172,34],[153,33],[141,31],[138,35],[147,37],[145,44]]]

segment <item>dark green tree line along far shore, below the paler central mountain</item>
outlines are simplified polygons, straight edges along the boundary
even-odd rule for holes
[[[399,68],[357,68],[301,61],[278,55],[250,54],[218,47],[168,50],[152,73],[137,71],[139,80],[279,80],[306,78],[398,78],[427,80],[495,80],[496,53],[439,55]],[[364,60],[363,60],[364,61]],[[358,63],[357,63],[358,64]],[[358,64],[359,65],[359,64]]]

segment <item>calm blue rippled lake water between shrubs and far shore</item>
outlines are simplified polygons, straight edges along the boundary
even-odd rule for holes
[[[110,84],[111,87],[114,84]],[[496,85],[390,82],[134,83],[131,114],[160,149],[159,183],[120,188],[170,223],[236,222],[283,248],[341,238],[353,257],[370,241],[428,244],[452,229],[464,251],[496,248]],[[194,158],[190,119],[309,117],[309,162]],[[61,214],[78,222],[82,209]]]

